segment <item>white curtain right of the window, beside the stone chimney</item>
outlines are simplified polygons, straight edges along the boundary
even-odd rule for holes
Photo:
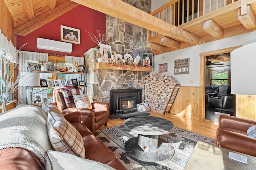
[[[84,57],[74,57],[74,56],[65,56],[66,66],[74,66],[74,63],[78,62],[80,66],[84,66]],[[84,80],[84,76],[78,76],[78,74],[65,74],[66,80],[71,80],[72,78],[77,80]]]

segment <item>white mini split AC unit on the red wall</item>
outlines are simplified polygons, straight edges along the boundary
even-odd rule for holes
[[[61,41],[54,41],[51,39],[37,38],[37,48],[44,50],[60,51],[71,53],[72,44]]]

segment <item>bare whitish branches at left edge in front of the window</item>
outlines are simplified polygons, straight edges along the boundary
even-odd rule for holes
[[[24,44],[26,45],[26,44]],[[22,45],[22,47],[24,46]],[[0,100],[2,101],[2,113],[6,111],[6,105],[8,102],[8,98],[10,95],[15,92],[18,89],[18,81],[24,77],[21,73],[18,74],[18,76],[15,76],[16,69],[18,69],[18,63],[14,63],[16,59],[16,55],[18,54],[18,51],[16,51],[13,55],[10,53],[10,47],[12,46],[12,43],[9,42],[9,48],[3,52],[0,53],[0,80],[1,80],[1,94],[0,94]],[[20,48],[22,48],[20,47]],[[13,63],[13,65],[12,65]]]

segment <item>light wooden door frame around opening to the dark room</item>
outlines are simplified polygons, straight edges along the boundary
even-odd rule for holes
[[[240,46],[236,46],[236,47],[229,47],[229,48],[225,48],[225,49],[218,49],[218,50],[214,50],[214,51],[208,51],[208,52],[204,52],[204,53],[200,53],[200,83],[199,86],[202,88],[202,115],[199,117],[199,119],[201,121],[205,120],[205,63],[206,63],[206,57],[211,56],[211,55],[218,55],[218,54],[222,54],[222,53],[230,53],[231,51],[233,51],[234,49],[237,49],[239,47],[242,47],[242,45]]]

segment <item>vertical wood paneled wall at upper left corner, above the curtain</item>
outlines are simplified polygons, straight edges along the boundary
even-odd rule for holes
[[[16,36],[14,35],[14,21],[4,2],[0,0],[0,29],[1,33],[7,37],[8,41],[12,41],[16,47]]]

